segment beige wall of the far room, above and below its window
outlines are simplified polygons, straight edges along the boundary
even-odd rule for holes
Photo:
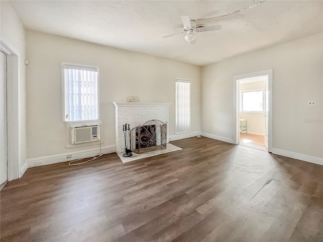
[[[264,91],[264,82],[250,82],[239,85],[240,91],[261,89]],[[264,135],[264,113],[239,112],[240,118],[247,119],[247,129],[249,134]]]

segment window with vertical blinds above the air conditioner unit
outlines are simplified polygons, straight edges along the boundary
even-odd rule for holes
[[[99,69],[63,63],[64,121],[98,119]]]

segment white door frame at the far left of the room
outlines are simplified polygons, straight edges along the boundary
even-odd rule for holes
[[[7,159],[8,181],[21,177],[23,115],[20,83],[20,52],[1,38],[0,49],[7,54]]]

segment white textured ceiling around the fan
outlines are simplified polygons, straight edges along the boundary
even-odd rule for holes
[[[255,1],[10,1],[29,30],[66,36],[203,66],[234,55],[305,37],[323,30],[322,1],[268,0],[239,14],[197,24],[221,24],[196,33],[191,45],[180,15],[208,18]]]

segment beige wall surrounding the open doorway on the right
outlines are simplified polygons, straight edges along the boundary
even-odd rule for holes
[[[201,131],[233,139],[233,76],[273,69],[273,148],[322,158],[322,43],[319,33],[203,67]]]

